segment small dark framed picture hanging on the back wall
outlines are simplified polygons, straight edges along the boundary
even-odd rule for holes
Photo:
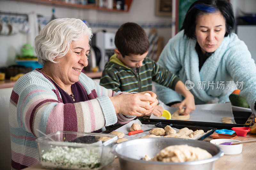
[[[172,17],[172,0],[156,0],[156,16]]]

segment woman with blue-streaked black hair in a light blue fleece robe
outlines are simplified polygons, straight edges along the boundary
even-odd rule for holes
[[[181,31],[164,47],[158,64],[179,75],[196,104],[228,102],[238,88],[255,113],[256,67],[247,46],[232,32],[234,26],[228,1],[198,0],[188,9]],[[183,100],[158,84],[156,91],[171,107]]]

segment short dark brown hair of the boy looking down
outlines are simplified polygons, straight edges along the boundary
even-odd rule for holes
[[[130,54],[142,55],[148,51],[149,41],[146,32],[140,25],[127,22],[117,30],[115,45],[123,57]]]

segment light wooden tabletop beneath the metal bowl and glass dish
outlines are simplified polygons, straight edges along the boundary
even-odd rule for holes
[[[214,132],[213,134],[215,134]],[[247,134],[246,137],[238,136],[236,140],[247,141],[255,140],[256,134]],[[210,142],[211,137],[205,138],[203,141]],[[39,164],[25,168],[24,170],[43,170]],[[256,169],[256,143],[248,143],[243,145],[242,153],[238,155],[224,155],[216,160],[215,170],[255,170]],[[102,170],[121,170],[118,158],[113,163]]]

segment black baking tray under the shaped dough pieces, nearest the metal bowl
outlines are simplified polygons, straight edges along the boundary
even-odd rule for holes
[[[163,119],[159,119],[159,120],[163,120]],[[158,124],[158,125],[156,125],[156,127],[160,127],[160,128],[164,128],[165,126],[170,125],[170,123],[165,123],[165,122],[152,123],[152,122],[141,121],[141,123],[142,124],[155,124],[155,125]],[[121,126],[123,126],[123,125],[119,125],[114,128],[108,129],[106,131],[102,131],[101,133],[110,133],[112,131],[115,131],[116,129],[118,129]],[[210,136],[215,130],[217,130],[216,128],[212,128],[212,127],[190,126],[190,125],[180,125],[180,124],[172,124],[172,127],[177,128],[177,129],[182,129],[182,128],[187,127],[188,129],[191,129],[192,131],[196,131],[196,130],[203,130],[204,132],[209,131],[208,133],[205,133],[201,138],[199,138],[197,140],[203,140],[204,138],[207,138],[208,136]]]

